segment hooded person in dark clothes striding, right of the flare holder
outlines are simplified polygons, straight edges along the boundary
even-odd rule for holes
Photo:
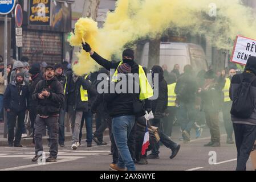
[[[159,128],[160,133],[160,140],[164,144],[165,147],[170,148],[172,150],[172,154],[170,155],[170,159],[173,159],[178,151],[180,150],[180,144],[177,144],[169,139],[169,137],[164,133],[162,128],[161,119],[165,115],[165,110],[167,109],[168,105],[168,87],[167,83],[164,79],[164,71],[159,65],[155,65],[152,68],[152,76],[155,77],[156,74],[159,76],[159,80],[154,79],[153,87],[157,87],[154,89],[159,90],[159,97],[156,100],[152,101],[152,111],[154,114],[154,119],[152,119],[151,124],[152,126],[156,126]],[[156,82],[158,81],[158,86]],[[151,154],[147,156],[147,159],[159,159],[159,143],[152,149]]]

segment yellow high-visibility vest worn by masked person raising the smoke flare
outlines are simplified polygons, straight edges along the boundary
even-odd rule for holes
[[[121,64],[123,64],[123,61],[120,61],[118,67]],[[111,80],[113,82],[117,81],[117,73],[118,73],[117,68],[116,68],[116,71]],[[154,94],[153,89],[152,89],[151,85],[149,84],[148,78],[146,77],[144,69],[143,69],[143,67],[141,67],[141,65],[139,65],[139,82],[140,82],[139,83],[140,84],[140,97],[139,97],[140,100],[145,100],[147,98],[152,97]]]

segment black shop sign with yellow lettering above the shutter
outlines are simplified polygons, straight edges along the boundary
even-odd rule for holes
[[[30,0],[29,24],[50,26],[51,1]]]

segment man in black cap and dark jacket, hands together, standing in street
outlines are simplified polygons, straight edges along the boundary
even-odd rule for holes
[[[32,99],[38,101],[35,119],[35,156],[32,162],[38,162],[43,151],[43,133],[50,131],[50,156],[46,162],[56,162],[58,155],[59,110],[64,101],[63,86],[55,77],[54,67],[47,65],[44,72],[44,80],[40,80],[35,86]]]

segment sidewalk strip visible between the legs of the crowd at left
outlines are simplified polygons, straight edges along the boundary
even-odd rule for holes
[[[95,131],[95,130],[96,130],[95,125],[93,124],[92,131]],[[82,134],[83,134],[82,139],[86,139],[86,127],[85,126],[83,127]],[[108,129],[106,129],[104,131],[103,135],[104,136],[108,135]],[[48,143],[47,138],[48,138],[48,136],[43,137],[43,144]],[[71,140],[72,140],[72,131],[66,132],[66,128],[65,128],[65,143],[68,141],[71,141]],[[28,144],[31,144],[31,143],[32,143],[32,138],[22,138],[21,139],[21,144],[23,146],[27,146]],[[3,147],[3,146],[8,146],[8,142],[7,142],[7,138],[3,138],[3,123],[0,123],[0,147]]]

